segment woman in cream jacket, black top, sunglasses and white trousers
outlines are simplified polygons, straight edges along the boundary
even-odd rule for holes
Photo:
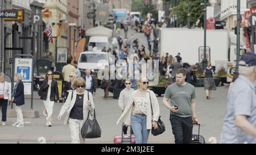
[[[64,124],[69,124],[71,132],[72,144],[85,143],[85,139],[81,136],[81,128],[87,119],[90,112],[89,119],[93,120],[94,116],[94,102],[92,93],[85,90],[86,83],[83,78],[77,78],[72,83],[74,91],[70,91],[66,102],[61,107],[58,120],[60,121],[64,113],[67,115],[64,119]],[[88,96],[89,95],[89,96]]]

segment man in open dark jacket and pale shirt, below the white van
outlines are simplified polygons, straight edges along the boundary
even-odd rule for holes
[[[94,77],[91,75],[91,71],[90,69],[86,69],[85,70],[85,75],[82,75],[82,78],[84,78],[85,82],[86,82],[86,91],[89,91],[90,93],[92,93],[94,96],[96,95],[96,85],[95,85],[95,79]]]

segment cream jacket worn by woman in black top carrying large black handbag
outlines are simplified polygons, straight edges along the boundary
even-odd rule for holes
[[[65,119],[64,119],[64,124],[68,124],[68,119],[69,119],[69,115],[71,113],[71,110],[72,108],[74,107],[75,105],[75,102],[76,102],[76,96],[77,96],[77,93],[76,93],[76,90],[73,91],[73,98],[71,100],[71,96],[72,96],[72,92],[68,94],[68,98],[66,100],[66,102],[64,103],[64,105],[62,106],[61,110],[60,110],[60,116],[63,116],[63,114],[65,112],[67,112],[67,115],[65,116]],[[92,102],[92,106],[88,106],[88,104],[86,103],[86,101],[88,100],[88,91],[84,91],[84,111],[83,111],[83,115],[84,115],[84,120],[83,120],[83,123],[86,121],[87,117],[88,117],[88,112],[90,111],[90,116],[89,116],[89,119],[92,119],[93,120],[93,116],[94,116],[94,102],[93,102],[93,97],[92,97],[92,93],[89,93],[89,99],[90,101]]]

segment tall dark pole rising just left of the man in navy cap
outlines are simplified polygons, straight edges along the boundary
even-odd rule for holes
[[[238,73],[239,69],[239,61],[240,61],[240,0],[237,0],[237,69]]]

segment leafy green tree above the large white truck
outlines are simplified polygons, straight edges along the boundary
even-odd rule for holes
[[[185,26],[188,23],[188,14],[190,24],[196,24],[200,19],[199,27],[203,26],[204,22],[204,6],[201,5],[204,0],[180,0],[175,6],[172,6],[171,15],[177,15],[177,19],[181,26]]]

